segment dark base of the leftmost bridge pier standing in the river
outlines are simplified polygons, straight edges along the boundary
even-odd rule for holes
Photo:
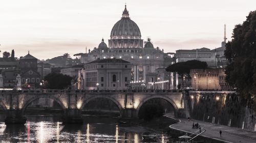
[[[5,124],[25,124],[27,118],[20,109],[9,109],[6,111]]]

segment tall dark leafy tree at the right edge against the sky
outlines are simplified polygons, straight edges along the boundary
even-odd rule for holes
[[[233,29],[232,40],[224,52],[229,61],[226,82],[236,87],[241,96],[251,100],[256,94],[256,11]]]

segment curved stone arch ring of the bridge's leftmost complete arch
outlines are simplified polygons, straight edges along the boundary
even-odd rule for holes
[[[60,106],[61,109],[63,110],[63,112],[66,112],[66,107],[63,105],[63,103],[59,100],[59,98],[55,97],[55,96],[45,96],[45,95],[41,95],[41,96],[35,96],[27,101],[25,101],[25,104],[22,107],[22,115],[24,115],[25,110],[27,109],[27,107],[35,100],[38,100],[40,98],[47,98],[47,99],[52,99],[54,101],[56,101]]]

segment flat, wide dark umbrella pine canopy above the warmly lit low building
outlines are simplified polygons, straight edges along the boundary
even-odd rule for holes
[[[190,69],[205,69],[207,68],[206,62],[201,62],[198,60],[189,60],[186,62],[177,62],[172,65],[169,65],[165,70],[177,73],[181,76],[184,74],[189,75]]]

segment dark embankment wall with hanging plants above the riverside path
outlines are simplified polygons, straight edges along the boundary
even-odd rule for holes
[[[190,93],[190,115],[196,120],[255,131],[255,112],[235,93]]]

